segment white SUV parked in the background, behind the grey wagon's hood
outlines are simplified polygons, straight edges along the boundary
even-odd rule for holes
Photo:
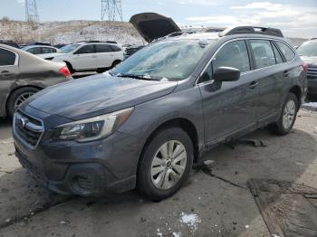
[[[62,47],[53,62],[66,62],[71,72],[105,71],[123,61],[123,49],[115,42],[81,42]]]

